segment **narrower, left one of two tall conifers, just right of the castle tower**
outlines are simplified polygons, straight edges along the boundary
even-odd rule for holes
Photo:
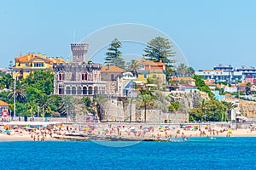
[[[105,64],[116,65],[121,69],[125,69],[125,61],[121,57],[122,52],[119,50],[119,48],[122,48],[122,44],[117,38],[114,38],[106,53],[107,57],[105,58]]]

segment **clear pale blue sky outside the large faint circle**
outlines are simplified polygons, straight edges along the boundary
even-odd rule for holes
[[[195,70],[218,63],[256,66],[255,8],[253,0],[1,1],[0,67],[20,52],[66,59],[71,42],[122,23],[165,32]],[[143,47],[138,48],[132,53],[143,54]],[[131,48],[124,44],[123,50]]]

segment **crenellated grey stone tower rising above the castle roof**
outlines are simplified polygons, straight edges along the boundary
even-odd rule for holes
[[[71,43],[71,50],[73,53],[73,62],[74,63],[83,63],[87,62],[87,51],[89,45],[86,43]]]

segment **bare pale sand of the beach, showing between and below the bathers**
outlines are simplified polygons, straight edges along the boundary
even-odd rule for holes
[[[138,129],[137,129],[138,130]],[[251,129],[236,129],[231,132],[224,131],[223,133],[220,133],[220,131],[223,130],[220,127],[215,129],[214,134],[209,132],[208,130],[205,131],[205,135],[201,135],[200,130],[186,130],[183,128],[177,128],[177,129],[169,129],[166,131],[160,130],[160,129],[154,129],[154,132],[146,132],[146,133],[141,133],[143,135],[137,136],[134,133],[128,134],[127,131],[124,129],[120,128],[121,134],[118,135],[117,132],[112,133],[112,134],[104,134],[102,133],[102,127],[97,127],[94,130],[95,135],[100,135],[100,136],[116,136],[116,137],[122,137],[126,139],[137,139],[137,140],[144,140],[144,139],[159,139],[159,138],[166,138],[166,134],[172,138],[182,138],[183,136],[185,138],[194,138],[194,137],[256,137],[256,131],[251,131]],[[141,130],[142,131],[142,130]],[[179,133],[177,133],[177,131]],[[218,133],[216,133],[218,131]],[[29,134],[26,131],[22,131],[22,135],[20,133],[10,133],[10,135],[7,135],[6,133],[0,133],[0,142],[6,142],[6,141],[33,141],[31,138],[31,134]],[[138,130],[139,132],[139,130]],[[143,132],[143,131],[142,131]],[[61,135],[67,133],[65,130],[61,131]],[[84,131],[81,131],[80,133],[84,133]],[[55,138],[52,138],[49,136],[49,134],[46,135],[46,138],[44,139],[46,141],[49,140],[57,140]],[[38,141],[36,138],[35,141]],[[39,139],[41,141],[41,139]]]

